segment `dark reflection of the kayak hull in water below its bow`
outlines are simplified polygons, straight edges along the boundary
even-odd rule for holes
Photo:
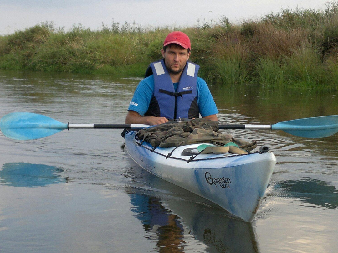
[[[251,223],[231,219],[219,211],[210,211],[210,208],[179,198],[166,200],[165,204],[180,217],[196,240],[208,246],[207,252],[259,252]]]

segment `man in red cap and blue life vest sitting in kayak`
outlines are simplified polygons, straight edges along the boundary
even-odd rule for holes
[[[135,90],[126,124],[158,125],[170,119],[198,118],[199,114],[218,121],[207,83],[197,77],[199,66],[188,61],[190,50],[185,33],[168,34],[161,49],[163,59],[150,64]]]

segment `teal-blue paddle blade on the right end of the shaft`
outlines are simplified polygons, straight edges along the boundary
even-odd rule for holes
[[[271,129],[300,137],[323,138],[338,132],[338,115],[283,121],[271,125]]]

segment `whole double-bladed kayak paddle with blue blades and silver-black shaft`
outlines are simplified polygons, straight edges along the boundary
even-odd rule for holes
[[[39,139],[56,134],[65,129],[133,129],[139,130],[144,124],[70,124],[61,123],[50,117],[29,113],[14,112],[0,120],[1,132],[15,140]],[[338,115],[294,119],[271,125],[263,124],[219,124],[219,129],[257,129],[283,130],[286,133],[306,137],[322,138],[338,132]]]

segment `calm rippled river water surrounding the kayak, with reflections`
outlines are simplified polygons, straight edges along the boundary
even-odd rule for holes
[[[70,123],[123,123],[139,78],[0,71],[0,117],[34,112]],[[221,123],[335,115],[336,93],[209,85]],[[338,134],[232,130],[277,163],[251,224],[154,177],[120,130],[0,133],[0,252],[337,252]]]

